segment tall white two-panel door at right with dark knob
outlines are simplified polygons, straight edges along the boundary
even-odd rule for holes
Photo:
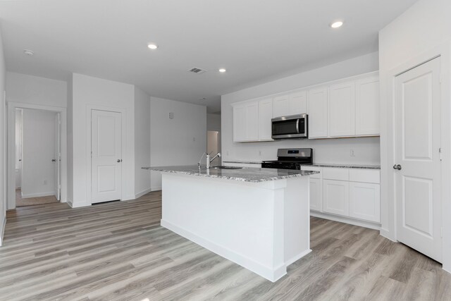
[[[396,77],[395,106],[397,240],[440,262],[440,58]]]

